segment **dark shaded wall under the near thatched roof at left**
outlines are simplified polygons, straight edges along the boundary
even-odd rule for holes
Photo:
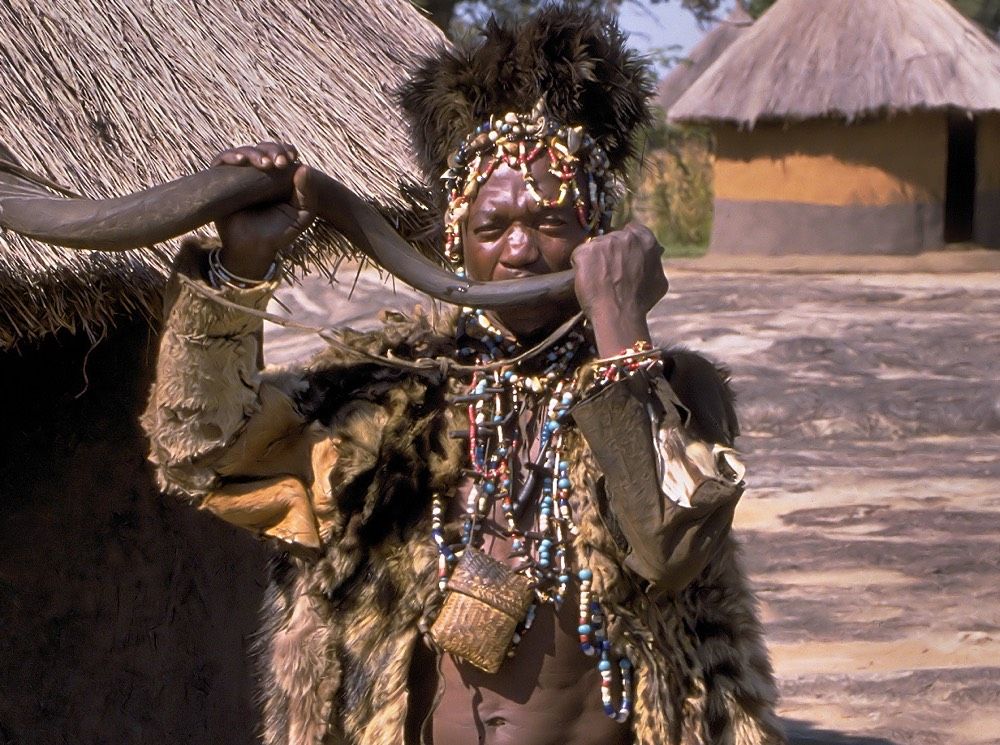
[[[0,743],[251,743],[262,546],[159,495],[151,331],[0,355]]]

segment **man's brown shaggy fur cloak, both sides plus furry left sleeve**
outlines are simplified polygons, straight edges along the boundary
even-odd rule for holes
[[[177,413],[195,404],[190,385],[211,381],[195,376],[189,385],[174,376],[204,367],[205,355],[229,359],[234,337],[225,333],[170,346],[188,343],[170,324],[195,323],[190,316],[202,312],[191,297],[179,302],[184,313],[168,322],[164,349],[170,355],[161,352],[144,423],[161,483],[197,499],[199,490],[214,488],[210,472],[235,468],[225,460],[232,447],[213,451],[204,441],[212,431],[204,418],[216,408],[199,414],[200,422],[192,417],[190,426]],[[265,384],[271,386],[272,409],[249,400],[239,405],[257,419],[281,413],[274,424],[280,437],[270,440],[268,457],[274,443],[287,442],[294,450],[294,441],[306,437],[313,438],[314,452],[317,443],[336,450],[328,483],[314,487],[325,492],[325,501],[314,493],[314,501],[323,501],[316,513],[321,547],[289,550],[274,565],[257,644],[268,745],[402,743],[413,648],[440,602],[429,509],[433,492],[448,493],[461,478],[463,454],[447,436],[457,426],[445,400],[454,384],[437,370],[400,371],[352,349],[414,357],[441,353],[453,343],[425,318],[398,316],[380,333],[345,333],[343,341],[345,346],[331,348],[304,372],[272,375]],[[212,344],[220,350],[212,352]],[[251,344],[244,355],[248,365],[254,350]],[[708,363],[679,353],[668,368],[693,410],[696,429],[731,419],[728,389]],[[685,370],[695,377],[685,377]],[[276,388],[287,393],[289,405],[273,406]],[[175,401],[180,403],[170,409]],[[260,423],[244,429],[257,436]],[[735,422],[728,422],[722,436],[726,432],[735,432]],[[730,539],[679,597],[657,604],[615,558],[617,547],[599,512],[601,474],[582,437],[573,437],[571,462],[580,527],[576,551],[593,567],[595,590],[607,601],[612,640],[635,662],[635,745],[784,742],[736,542]]]

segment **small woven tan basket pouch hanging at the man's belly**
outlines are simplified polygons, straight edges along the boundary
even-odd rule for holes
[[[474,548],[462,553],[431,637],[445,652],[496,673],[528,612],[531,580]]]

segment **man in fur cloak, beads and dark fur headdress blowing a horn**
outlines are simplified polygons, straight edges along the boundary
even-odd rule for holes
[[[258,370],[254,310],[311,171],[278,143],[217,158],[294,191],[182,254],[145,426],[165,488],[283,551],[268,743],[783,741],[728,536],[728,390],[653,348],[660,247],[608,231],[649,92],[613,24],[559,8],[428,61],[403,100],[445,171],[446,258],[485,281],[573,266],[575,298],[447,333],[393,317],[304,370]]]

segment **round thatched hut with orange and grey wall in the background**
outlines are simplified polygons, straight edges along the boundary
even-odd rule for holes
[[[1000,245],[1000,48],[946,0],[778,0],[670,118],[716,135],[713,252]]]

